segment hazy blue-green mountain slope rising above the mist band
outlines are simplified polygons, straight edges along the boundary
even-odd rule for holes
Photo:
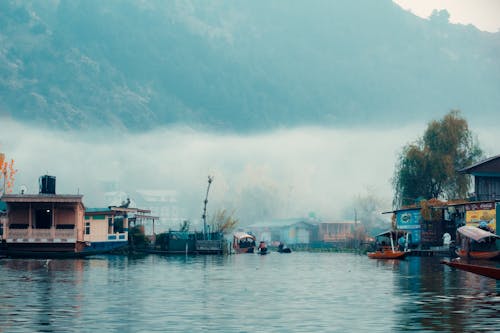
[[[0,116],[228,131],[498,119],[500,33],[390,0],[0,2]]]

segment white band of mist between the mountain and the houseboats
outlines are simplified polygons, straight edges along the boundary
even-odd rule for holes
[[[89,207],[111,204],[104,197],[109,183],[126,193],[175,190],[182,217],[196,219],[212,175],[209,208],[234,210],[247,224],[311,212],[346,218],[345,207],[368,190],[390,209],[397,154],[421,136],[424,126],[302,127],[252,135],[173,127],[123,134],[47,130],[2,120],[1,148],[18,169],[14,193],[21,185],[36,193],[38,177],[46,173],[57,177],[57,193],[83,194]],[[480,141],[487,139],[487,152],[488,143],[498,139],[493,131],[476,133]]]

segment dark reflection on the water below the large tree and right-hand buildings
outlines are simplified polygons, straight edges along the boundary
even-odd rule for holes
[[[500,305],[495,280],[440,264],[440,258],[401,261],[395,288],[406,302],[398,309],[396,330],[489,330],[498,327]]]

